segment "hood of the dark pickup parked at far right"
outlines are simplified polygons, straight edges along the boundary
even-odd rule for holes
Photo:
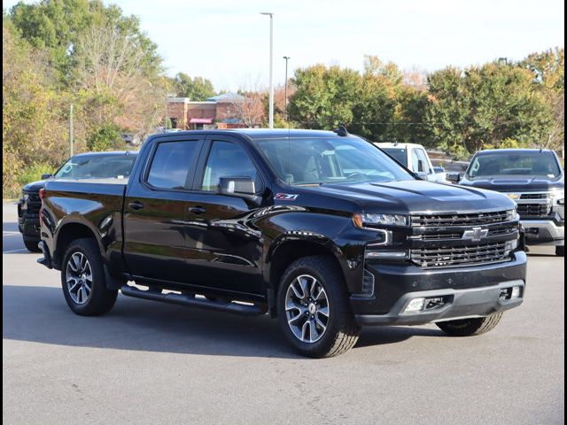
[[[490,189],[499,192],[517,191],[548,191],[551,189],[563,189],[563,179],[550,180],[545,177],[510,176],[510,177],[487,177],[485,179],[465,180],[462,185],[479,189]]]

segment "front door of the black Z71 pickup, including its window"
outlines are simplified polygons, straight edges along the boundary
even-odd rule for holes
[[[263,191],[257,166],[237,139],[207,141],[187,210],[188,263],[198,284],[262,293],[260,230],[253,226],[257,205],[218,193],[221,177],[251,177]]]

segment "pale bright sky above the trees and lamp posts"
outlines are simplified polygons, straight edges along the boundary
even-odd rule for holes
[[[269,20],[259,12],[275,13],[276,83],[283,56],[290,74],[315,63],[361,69],[365,54],[433,71],[564,45],[563,0],[104,2],[141,19],[168,74],[204,76],[216,89],[268,84]]]

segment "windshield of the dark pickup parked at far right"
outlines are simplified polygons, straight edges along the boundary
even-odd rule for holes
[[[554,179],[561,175],[561,168],[551,152],[493,152],[477,155],[467,171],[471,179],[497,175],[537,175]]]

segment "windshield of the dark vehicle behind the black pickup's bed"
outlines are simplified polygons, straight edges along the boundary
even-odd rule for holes
[[[66,179],[107,179],[129,177],[136,155],[91,155],[70,158],[55,177]]]

